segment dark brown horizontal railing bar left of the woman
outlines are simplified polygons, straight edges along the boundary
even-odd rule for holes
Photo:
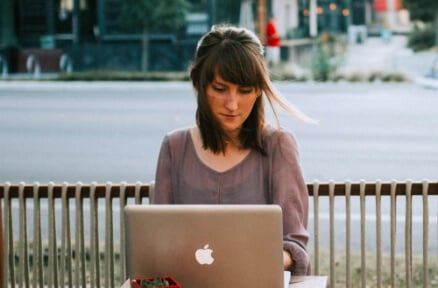
[[[111,185],[111,198],[119,198],[120,190],[122,185],[110,184]],[[49,194],[49,184],[38,184],[38,197],[39,198],[48,198]],[[76,186],[77,184],[68,184],[67,185],[67,198],[75,198],[76,197]],[[62,197],[62,189],[63,184],[54,184],[53,185],[53,197],[61,198]],[[140,197],[149,197],[149,184],[140,184],[138,186],[140,189],[139,194]],[[82,198],[90,198],[90,191],[92,188],[92,184],[80,184],[81,189],[81,197]],[[106,189],[107,184],[96,184],[95,186],[95,195],[97,198],[105,198],[106,197]],[[126,184],[125,186],[125,197],[135,197],[135,191],[137,189],[137,184]],[[9,195],[11,198],[19,197],[20,184],[11,184],[9,186]],[[6,191],[6,184],[0,184],[0,199],[4,198],[4,194]],[[34,195],[34,184],[25,184],[23,187],[23,196],[24,198],[33,198]]]

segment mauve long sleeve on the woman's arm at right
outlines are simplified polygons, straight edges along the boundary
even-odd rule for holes
[[[271,194],[274,204],[283,210],[284,249],[292,255],[293,275],[308,275],[311,272],[310,257],[306,251],[309,240],[308,192],[302,175],[297,144],[292,134],[280,132],[272,137]],[[280,139],[277,141],[275,139]]]

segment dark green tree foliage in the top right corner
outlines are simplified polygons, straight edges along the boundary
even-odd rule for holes
[[[403,5],[409,10],[412,20],[434,23],[435,46],[438,47],[438,1],[404,0]]]

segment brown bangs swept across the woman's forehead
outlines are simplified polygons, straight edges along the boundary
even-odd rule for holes
[[[217,73],[227,82],[245,86],[261,88],[263,83],[263,66],[260,60],[251,50],[244,49],[242,45],[235,41],[226,40],[220,44],[216,53],[211,55],[205,63],[207,81],[211,83]]]

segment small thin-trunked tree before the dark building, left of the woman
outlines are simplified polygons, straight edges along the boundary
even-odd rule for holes
[[[185,24],[188,0],[123,0],[123,25],[143,33],[142,70],[147,71],[148,42],[151,31],[176,31]]]

